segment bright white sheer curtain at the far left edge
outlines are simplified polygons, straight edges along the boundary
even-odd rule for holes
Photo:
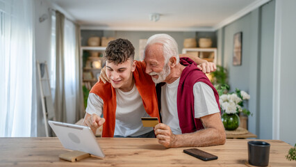
[[[0,137],[31,136],[33,1],[0,0]]]

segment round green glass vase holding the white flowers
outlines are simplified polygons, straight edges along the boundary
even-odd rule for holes
[[[221,118],[226,130],[235,130],[240,125],[240,117],[236,113],[223,113]]]

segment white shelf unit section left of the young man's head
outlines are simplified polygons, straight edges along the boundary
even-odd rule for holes
[[[89,54],[81,63],[83,85],[88,89],[97,82],[101,68],[104,67],[105,50],[106,47],[81,47],[81,60],[83,60],[84,51],[88,51],[86,54]]]

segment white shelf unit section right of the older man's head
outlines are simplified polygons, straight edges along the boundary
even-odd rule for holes
[[[191,54],[217,64],[217,48],[183,48],[182,54]]]

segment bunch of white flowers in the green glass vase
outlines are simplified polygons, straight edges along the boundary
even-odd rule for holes
[[[242,112],[249,116],[250,112],[247,109],[242,109],[243,101],[249,100],[249,98],[249,94],[236,88],[234,93],[220,95],[219,102],[225,113]]]

